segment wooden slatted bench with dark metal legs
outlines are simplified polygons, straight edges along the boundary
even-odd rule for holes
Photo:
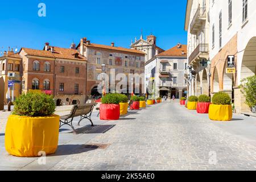
[[[79,117],[79,116],[80,116],[80,120],[78,122],[79,126],[82,119],[88,119],[93,126],[93,122],[92,122],[92,119],[90,119],[90,116],[92,115],[93,107],[96,105],[97,103],[74,105],[71,109],[70,114],[63,115],[60,117],[60,127],[63,125],[68,125],[73,129],[73,133],[77,134],[75,128],[73,127],[72,122],[75,117]]]

